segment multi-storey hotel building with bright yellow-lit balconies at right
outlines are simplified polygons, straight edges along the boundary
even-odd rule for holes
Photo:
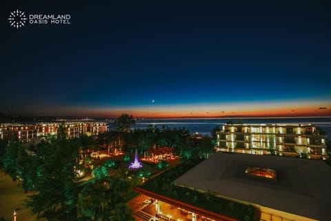
[[[326,138],[312,124],[223,124],[217,150],[325,159]]]

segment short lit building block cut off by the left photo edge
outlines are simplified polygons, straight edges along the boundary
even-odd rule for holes
[[[30,142],[37,137],[37,127],[31,124],[0,124],[0,138],[11,140],[17,137],[21,142]]]

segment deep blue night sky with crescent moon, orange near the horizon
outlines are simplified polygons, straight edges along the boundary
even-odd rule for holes
[[[330,116],[330,6],[4,1],[0,113]],[[17,9],[70,24],[10,27]]]

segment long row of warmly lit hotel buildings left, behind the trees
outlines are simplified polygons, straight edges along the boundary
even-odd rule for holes
[[[17,137],[21,142],[30,142],[37,137],[57,135],[57,130],[62,123],[41,122],[37,124],[0,124],[0,139],[11,140]],[[107,131],[104,122],[64,122],[68,138],[79,137],[79,135],[97,135]]]

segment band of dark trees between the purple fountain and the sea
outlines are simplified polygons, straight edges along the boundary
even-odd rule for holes
[[[145,130],[136,128],[132,131],[108,131],[98,136],[98,144],[108,148],[121,148],[134,153],[137,148],[140,154],[162,146],[172,147],[174,155],[183,159],[195,157],[207,158],[214,152],[214,145],[209,137],[191,137],[186,128],[168,126],[148,126]],[[128,160],[126,160],[128,161]]]

